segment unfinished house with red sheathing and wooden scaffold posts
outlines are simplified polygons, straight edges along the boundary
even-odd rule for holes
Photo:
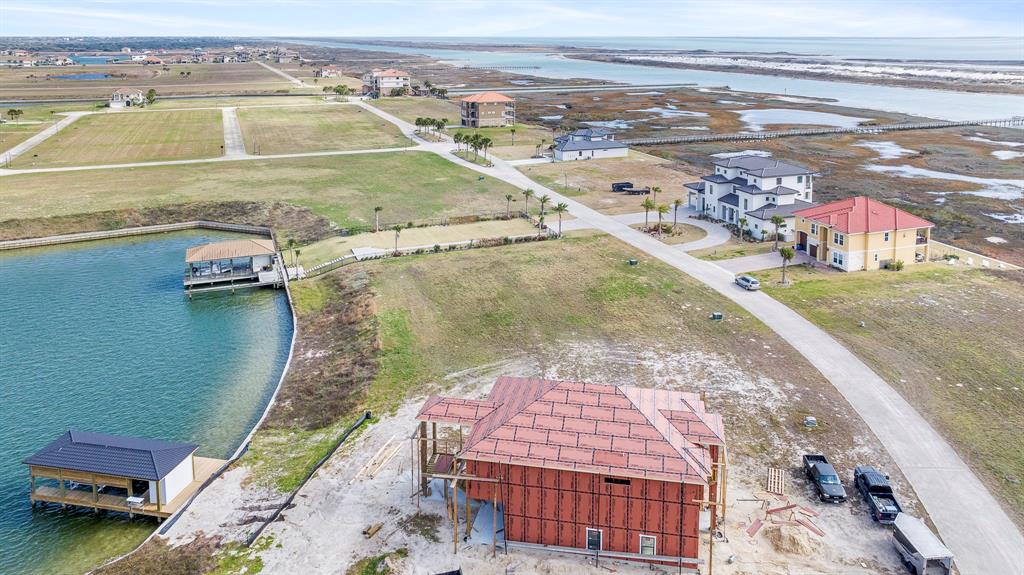
[[[490,506],[492,542],[695,570],[701,512],[725,515],[722,418],[693,393],[500,378],[486,399],[430,397],[414,492]],[[438,428],[440,426],[440,429]]]

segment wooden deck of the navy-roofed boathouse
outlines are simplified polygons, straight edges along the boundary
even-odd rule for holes
[[[47,503],[60,503],[63,505],[75,505],[79,507],[91,507],[93,510],[105,510],[112,512],[121,512],[129,515],[144,515],[156,517],[160,519],[166,519],[174,515],[181,505],[185,504],[185,501],[193,496],[194,493],[199,491],[199,488],[203,483],[209,479],[213,474],[217,473],[221,467],[226,463],[224,459],[214,459],[211,457],[195,457],[196,463],[196,479],[185,487],[181,493],[177,495],[174,499],[171,499],[166,504],[158,505],[156,503],[151,503],[148,497],[146,497],[146,502],[140,507],[129,507],[128,503],[125,501],[124,495],[113,495],[110,493],[95,493],[92,491],[87,491],[83,489],[65,489],[61,491],[59,487],[53,487],[49,485],[41,485],[36,487],[35,491],[32,492],[30,498],[35,504],[37,501],[47,502]]]

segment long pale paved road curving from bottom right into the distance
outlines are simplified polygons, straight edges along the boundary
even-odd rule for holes
[[[415,137],[412,124],[361,105]],[[736,286],[733,274],[718,265],[540,185],[507,162],[495,158],[494,167],[484,168],[452,154],[447,142],[421,147],[519,189],[547,193],[552,202],[568,205],[577,220],[683,271],[741,306],[788,342],[850,402],[913,486],[943,540],[956,555],[963,575],[1024,573],[1024,537],[971,468],[899,393],[827,333],[763,292]]]

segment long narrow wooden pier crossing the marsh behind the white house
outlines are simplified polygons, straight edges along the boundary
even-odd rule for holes
[[[827,136],[838,134],[882,134],[885,132],[902,132],[906,130],[937,130],[940,128],[958,128],[963,126],[993,126],[1020,127],[1024,126],[1024,116],[1015,116],[1000,120],[974,120],[965,122],[902,122],[899,124],[881,124],[876,126],[857,126],[855,128],[801,128],[798,130],[780,130],[766,132],[738,132],[731,134],[703,134],[692,136],[667,136],[657,138],[627,138],[618,140],[628,145],[660,145],[677,143],[706,143],[732,141],[761,141],[775,138],[792,138],[797,136]]]

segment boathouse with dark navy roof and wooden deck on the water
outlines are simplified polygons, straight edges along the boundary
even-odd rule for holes
[[[71,430],[23,461],[32,504],[122,512],[166,519],[224,463],[194,443]]]

